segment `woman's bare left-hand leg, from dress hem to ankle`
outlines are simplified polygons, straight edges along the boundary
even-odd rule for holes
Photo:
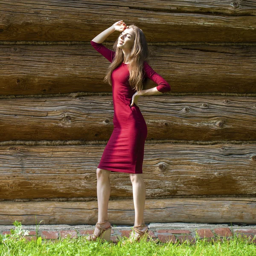
[[[104,222],[108,220],[108,201],[110,197],[110,180],[109,175],[111,171],[99,169],[97,173],[97,199],[98,199],[98,222]],[[110,227],[110,223],[106,222],[102,224],[103,227]],[[96,229],[98,230],[98,229]]]

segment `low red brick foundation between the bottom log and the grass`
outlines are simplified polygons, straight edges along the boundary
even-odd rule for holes
[[[233,226],[233,232],[230,227],[224,224],[210,225],[210,224],[180,224],[183,228],[179,227],[179,224],[166,223],[166,224],[149,224],[150,230],[148,235],[148,241],[160,241],[163,243],[183,243],[189,242],[194,244],[197,239],[206,239],[207,241],[223,241],[223,238],[231,239],[233,235],[241,236],[248,239],[249,242],[256,244],[256,225],[250,225],[250,227]],[[206,226],[206,227],[203,227]],[[207,227],[208,226],[208,227]],[[1,234],[9,234],[10,229],[14,229],[11,226],[0,226]],[[23,226],[24,230],[29,230],[29,236],[26,236],[28,240],[36,239],[35,226]],[[79,236],[88,236],[93,234],[94,226],[90,225],[41,225],[38,229],[38,236],[43,239],[57,241],[60,238],[77,238]],[[116,243],[122,237],[128,237],[131,233],[131,227],[112,227],[111,241]],[[197,234],[197,235],[196,235]]]

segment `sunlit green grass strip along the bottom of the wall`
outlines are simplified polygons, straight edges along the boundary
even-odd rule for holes
[[[256,245],[241,236],[233,236],[230,240],[213,241],[211,243],[205,239],[197,240],[195,244],[184,242],[183,244],[161,243],[160,241],[150,240],[122,245],[112,242],[101,243],[98,241],[86,241],[85,236],[77,239],[61,238],[56,242],[41,239],[27,241],[24,236],[26,230],[22,230],[20,222],[15,222],[15,230],[11,235],[0,236],[0,255],[15,256],[42,256],[42,255],[115,255],[115,256],[149,256],[149,255],[168,255],[168,256],[256,256]],[[122,238],[126,239],[126,238]]]

